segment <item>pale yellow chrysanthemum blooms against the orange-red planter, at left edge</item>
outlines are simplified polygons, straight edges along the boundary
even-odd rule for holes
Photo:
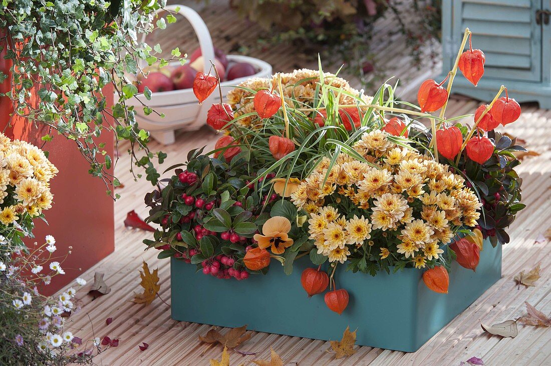
[[[57,172],[44,151],[0,133],[0,235],[16,247],[24,247],[33,220],[52,207],[50,179]]]

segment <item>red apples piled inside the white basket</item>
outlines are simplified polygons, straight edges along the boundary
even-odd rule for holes
[[[214,47],[214,65],[222,81],[250,77],[256,74],[255,67],[246,62],[234,62],[231,65],[224,51]],[[147,86],[152,92],[191,89],[193,79],[203,70],[204,59],[201,48],[197,48],[185,65],[168,65],[164,68],[152,66],[147,69],[147,77],[138,77],[138,91],[143,92]],[[206,70],[208,72],[208,70]]]

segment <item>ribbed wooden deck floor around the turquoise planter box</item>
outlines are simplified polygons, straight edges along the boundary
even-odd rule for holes
[[[226,13],[228,11],[226,8],[212,6],[202,12],[213,31],[214,39],[252,39],[254,35],[247,34],[246,26],[239,22],[217,23],[222,14],[229,17]],[[381,21],[383,28],[390,25],[385,20]],[[173,37],[172,41],[177,42],[176,38]],[[399,44],[400,40],[395,42]],[[224,43],[222,47],[224,45],[228,46]],[[397,48],[399,47],[393,47],[393,52]],[[278,50],[277,54],[264,54],[263,58],[271,62],[276,71],[289,71],[298,66],[296,63],[300,63],[293,58],[290,48]],[[300,63],[300,66],[310,65]],[[407,74],[408,88],[403,89],[403,94],[407,96],[417,88],[418,81],[426,77],[419,71],[410,69],[403,60],[393,62],[389,67],[396,70],[396,74]],[[477,106],[476,101],[457,99],[451,102],[447,113],[472,113]],[[487,365],[551,364],[551,330],[520,325],[516,338],[501,338],[484,334],[479,325],[479,319],[484,323],[494,324],[518,318],[525,314],[525,301],[545,314],[551,314],[551,245],[548,241],[536,243],[536,238],[551,227],[551,151],[548,142],[551,136],[551,111],[539,110],[533,105],[522,107],[520,120],[509,125],[507,132],[525,139],[528,148],[541,153],[537,157],[528,157],[518,169],[524,179],[523,202],[528,207],[518,215],[510,228],[512,241],[504,247],[503,278],[471,307],[415,353],[357,347],[358,352],[354,356],[333,360],[334,356],[326,352],[329,348],[328,342],[253,332],[251,339],[239,349],[258,353],[254,356],[242,356],[231,352],[231,365],[249,365],[251,359],[269,359],[270,347],[274,348],[286,365],[459,365],[461,361],[473,356],[482,358]],[[177,142],[172,146],[165,148],[152,144],[152,148],[168,153],[168,159],[164,163],[168,167],[184,161],[190,149],[203,145],[212,147],[215,139],[214,133],[204,128],[177,136]],[[210,358],[219,359],[222,353],[220,346],[211,347],[204,352],[207,346],[198,341],[197,336],[205,334],[210,326],[171,320],[170,308],[159,299],[147,306],[130,302],[133,293],[139,291],[138,270],[142,260],[145,260],[150,268],[159,268],[160,296],[170,303],[170,266],[168,260],[156,259],[156,251],[143,252],[142,239],[149,237],[150,233],[128,230],[123,226],[128,211],[136,210],[142,217],[147,214],[143,195],[151,187],[145,181],[132,180],[127,171],[125,149],[121,151],[122,159],[116,172],[125,187],[118,190],[122,198],[115,204],[115,253],[82,275],[91,283],[95,271],[104,272],[105,280],[112,290],[94,301],[85,295],[85,289],[81,291],[82,310],[72,316],[70,326],[74,334],[84,339],[105,335],[120,338],[118,347],[102,352],[95,359],[97,364],[208,365]],[[513,277],[521,270],[530,270],[537,263],[542,266],[542,278],[538,285],[518,288]],[[110,317],[113,321],[106,325],[105,319]],[[149,348],[143,352],[138,349],[141,342],[149,344]]]

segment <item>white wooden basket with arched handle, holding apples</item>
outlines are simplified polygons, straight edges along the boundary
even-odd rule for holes
[[[203,19],[199,17],[199,14],[195,10],[183,5],[171,5],[167,6],[166,9],[173,12],[178,10],[178,13],[190,22],[197,34],[199,47],[204,56],[204,70],[208,70],[210,68],[210,60],[214,60],[214,47],[207,25]],[[162,12],[163,10],[160,11]],[[272,66],[260,59],[234,54],[229,54],[227,57],[230,65],[236,62],[247,62],[255,67],[257,73],[246,78],[223,81],[221,84],[223,95],[226,95],[235,85],[246,79],[254,77],[268,78],[272,75]],[[176,63],[179,64],[177,61]],[[145,99],[143,94],[138,95],[137,98],[139,101],[131,99],[127,101],[127,104],[134,105],[136,108],[136,121],[139,127],[148,130],[155,140],[164,145],[174,143],[174,130],[176,129],[192,131],[201,128],[206,123],[207,111],[210,106],[213,103],[220,102],[219,93],[213,92],[206,101],[199,105],[192,89],[154,92],[152,93],[151,100]],[[140,101],[153,108],[159,114],[164,113],[165,117],[161,118],[156,113],[145,116]]]

